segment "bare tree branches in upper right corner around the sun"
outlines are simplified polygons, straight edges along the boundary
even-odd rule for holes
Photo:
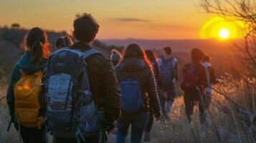
[[[255,0],[201,0],[202,8],[210,14],[218,14],[225,19],[242,21],[245,27],[243,44],[236,44],[244,51],[256,69],[256,1]],[[248,58],[247,58],[248,59]]]

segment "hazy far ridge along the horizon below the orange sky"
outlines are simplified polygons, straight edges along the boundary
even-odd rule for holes
[[[214,54],[227,52],[227,47],[232,46],[232,41],[217,41],[213,39],[100,39],[105,44],[127,46],[131,43],[140,44],[145,49],[161,49],[163,46],[171,46],[175,53],[189,52],[193,48],[200,48]]]

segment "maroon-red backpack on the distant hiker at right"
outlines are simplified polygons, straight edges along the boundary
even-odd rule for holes
[[[186,64],[183,67],[182,73],[182,82],[181,82],[181,89],[184,91],[188,91],[191,89],[196,89],[196,69],[194,64]]]

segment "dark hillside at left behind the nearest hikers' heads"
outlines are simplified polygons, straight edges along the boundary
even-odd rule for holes
[[[5,71],[7,74],[11,73],[11,69],[14,64],[19,60],[19,58],[24,54],[22,49],[22,42],[24,36],[27,34],[28,29],[9,29],[0,28],[0,70]],[[46,31],[49,37],[49,42],[51,44],[51,49],[54,51],[54,42],[60,36],[67,36],[65,31]],[[114,46],[107,46],[102,44],[100,41],[95,41],[95,49],[109,56],[110,50]]]

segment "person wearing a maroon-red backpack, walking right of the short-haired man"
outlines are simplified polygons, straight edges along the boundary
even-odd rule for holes
[[[194,106],[198,104],[201,124],[204,124],[206,119],[204,91],[207,87],[207,74],[204,66],[202,66],[204,56],[204,52],[200,49],[192,49],[191,62],[183,66],[181,81],[181,89],[184,90],[185,110],[189,122],[191,122]]]

